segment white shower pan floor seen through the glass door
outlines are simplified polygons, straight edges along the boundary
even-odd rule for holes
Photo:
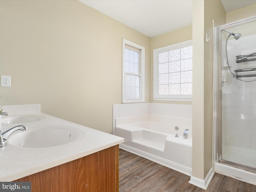
[[[222,151],[222,160],[219,162],[256,172],[256,150],[226,146]]]

